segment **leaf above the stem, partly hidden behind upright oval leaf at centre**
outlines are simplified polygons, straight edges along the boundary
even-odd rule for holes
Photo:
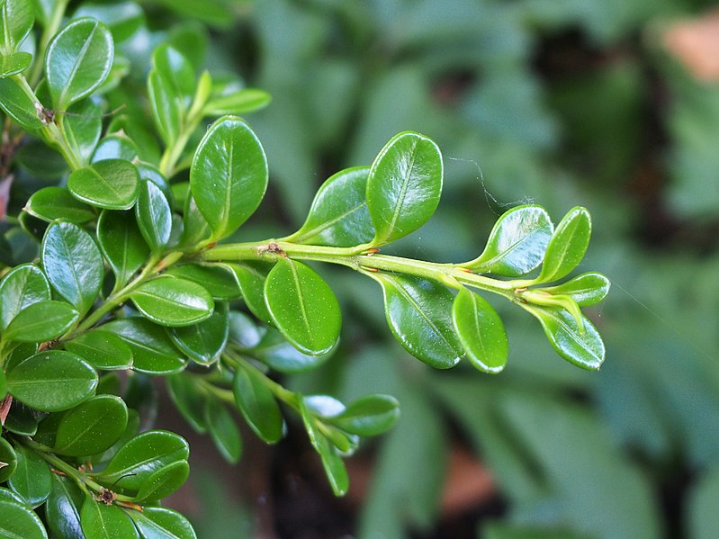
[[[301,229],[288,241],[331,247],[355,247],[374,237],[374,225],[367,210],[366,166],[347,168],[330,176],[312,202]]]

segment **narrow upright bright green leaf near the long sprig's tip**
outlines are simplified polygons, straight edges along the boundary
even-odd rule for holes
[[[591,219],[586,208],[571,209],[557,225],[544,255],[542,273],[535,283],[548,283],[562,279],[577,265],[589,247]]]

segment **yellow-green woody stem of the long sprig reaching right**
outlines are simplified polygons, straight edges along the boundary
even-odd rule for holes
[[[197,258],[206,261],[277,260],[288,256],[294,260],[313,260],[329,264],[346,265],[360,272],[393,272],[416,275],[447,286],[462,285],[498,293],[509,300],[516,299],[517,285],[513,281],[499,281],[474,274],[452,264],[437,264],[403,258],[401,256],[357,253],[355,247],[322,247],[290,243],[286,241],[250,242],[219,245],[203,251]]]

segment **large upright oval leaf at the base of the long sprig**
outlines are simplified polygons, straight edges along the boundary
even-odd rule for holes
[[[212,238],[225,238],[257,209],[267,188],[265,150],[247,123],[215,121],[194,154],[190,185]]]

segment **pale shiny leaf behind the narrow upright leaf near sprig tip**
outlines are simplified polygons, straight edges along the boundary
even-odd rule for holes
[[[497,220],[487,247],[465,267],[479,274],[508,277],[528,274],[541,264],[552,234],[552,220],[544,208],[517,206]]]

